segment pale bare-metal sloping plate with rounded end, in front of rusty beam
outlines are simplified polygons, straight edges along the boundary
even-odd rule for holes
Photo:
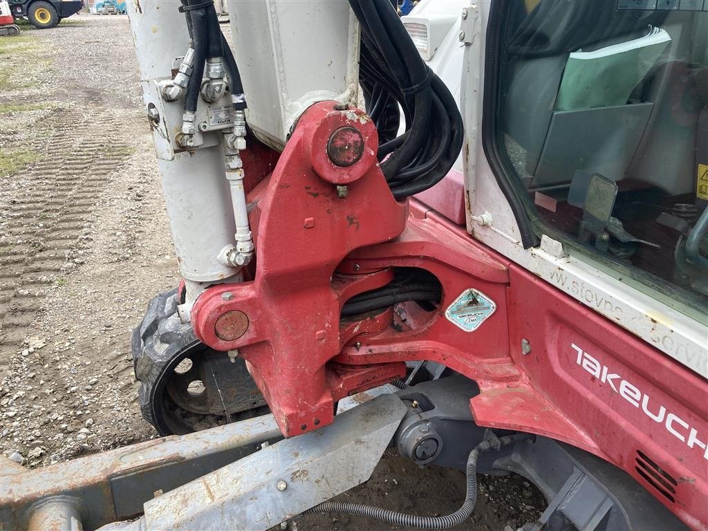
[[[145,503],[146,530],[267,530],[366,481],[407,408],[384,394]],[[111,529],[135,529],[136,523]]]

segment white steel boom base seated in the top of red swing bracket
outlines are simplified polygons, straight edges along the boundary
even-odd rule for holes
[[[299,115],[317,101],[357,104],[359,24],[348,2],[228,6],[246,119],[263,142],[282,149]]]

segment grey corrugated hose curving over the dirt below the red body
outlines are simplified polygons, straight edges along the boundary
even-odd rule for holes
[[[526,433],[517,433],[515,435],[506,435],[500,438],[501,447],[508,446],[518,440],[529,438]],[[477,501],[477,460],[481,452],[489,452],[493,447],[491,442],[483,440],[474,447],[472,452],[469,452],[467,457],[466,481],[467,491],[464,496],[462,507],[457,509],[455,513],[445,516],[418,516],[409,515],[407,513],[399,513],[395,510],[384,509],[381,507],[367,506],[363,503],[350,503],[348,501],[325,501],[312,509],[305,511],[308,513],[346,513],[355,516],[366,516],[368,518],[376,518],[383,520],[389,524],[401,525],[406,527],[419,527],[421,529],[448,529],[455,527],[467,520],[474,511],[474,506]]]

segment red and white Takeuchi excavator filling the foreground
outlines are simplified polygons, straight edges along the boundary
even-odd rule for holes
[[[708,2],[131,0],[182,281],[132,338],[164,437],[35,470],[19,530],[708,529]],[[332,500],[387,448],[449,515]],[[426,486],[421,485],[421,489]]]

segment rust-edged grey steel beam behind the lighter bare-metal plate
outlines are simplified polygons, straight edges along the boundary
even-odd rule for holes
[[[85,513],[79,511],[86,529],[125,520],[142,513],[143,503],[153,498],[155,491],[171,491],[249,455],[265,440],[278,438],[280,431],[275,419],[266,415],[189,435],[142,442],[41,469],[16,474],[6,474],[3,469],[0,529],[35,530],[42,527],[30,526],[30,522],[51,523],[52,518],[66,521],[67,506],[55,505],[56,510],[50,511],[47,505],[40,513],[36,510],[42,501],[66,501],[67,497],[81,501],[76,508],[81,505],[88,508]],[[40,520],[36,520],[38,518]]]

